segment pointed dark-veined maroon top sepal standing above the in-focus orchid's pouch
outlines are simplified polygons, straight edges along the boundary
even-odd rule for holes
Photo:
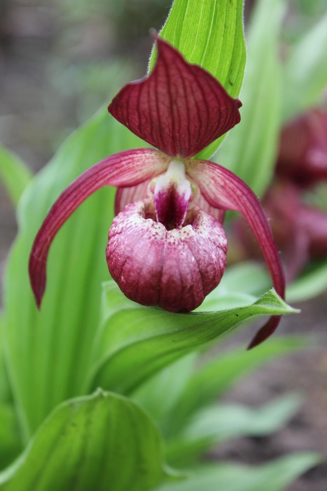
[[[193,157],[240,122],[242,104],[160,38],[157,48],[151,75],[125,85],[108,111],[167,155]]]

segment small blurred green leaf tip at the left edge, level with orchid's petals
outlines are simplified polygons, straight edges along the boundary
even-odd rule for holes
[[[31,177],[32,173],[28,167],[16,155],[0,145],[0,180],[15,207]]]

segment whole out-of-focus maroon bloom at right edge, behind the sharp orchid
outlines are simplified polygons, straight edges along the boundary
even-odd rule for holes
[[[327,214],[303,202],[305,189],[325,180],[327,109],[313,109],[283,128],[275,182],[263,199],[287,281],[295,279],[310,259],[327,255]],[[235,230],[246,256],[256,257],[245,224],[237,221]]]

